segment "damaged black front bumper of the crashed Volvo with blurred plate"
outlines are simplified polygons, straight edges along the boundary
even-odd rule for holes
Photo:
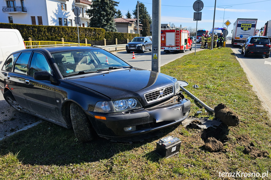
[[[149,108],[141,108],[138,110],[130,111],[128,114],[123,112],[114,113],[97,113],[87,111],[86,114],[97,132],[98,136],[105,137],[111,140],[118,140],[119,138],[145,134],[155,130],[159,130],[174,124],[180,123],[188,117],[191,102],[188,99],[176,101],[177,97],[172,98],[167,103],[156,105]],[[171,120],[171,115],[168,114],[169,119],[157,120],[157,112],[161,110],[178,110],[181,111],[180,116]],[[162,112],[162,111],[161,111]],[[106,120],[96,119],[94,116],[106,117]],[[130,127],[131,131],[128,131]]]

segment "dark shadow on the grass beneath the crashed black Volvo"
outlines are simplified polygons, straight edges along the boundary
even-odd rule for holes
[[[108,159],[119,152],[129,151],[146,143],[156,141],[173,131],[179,124],[160,130],[160,136],[143,142],[113,143],[101,137],[89,143],[77,142],[73,129],[66,129],[50,122],[19,132],[0,141],[0,155],[19,152],[24,164],[68,165],[71,163],[96,162]]]

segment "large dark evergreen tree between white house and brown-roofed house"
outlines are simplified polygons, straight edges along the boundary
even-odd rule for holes
[[[104,28],[109,32],[117,32],[114,16],[117,13],[115,6],[118,2],[113,0],[92,0],[90,9],[86,10],[89,15],[89,27]]]

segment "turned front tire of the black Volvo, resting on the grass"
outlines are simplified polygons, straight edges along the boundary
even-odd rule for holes
[[[78,141],[88,142],[93,140],[94,129],[90,126],[89,119],[83,109],[76,103],[70,104],[70,115],[73,131]]]

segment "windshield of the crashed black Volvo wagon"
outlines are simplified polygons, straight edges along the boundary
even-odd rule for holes
[[[132,68],[104,49],[82,49],[51,53],[63,77],[103,70]]]

